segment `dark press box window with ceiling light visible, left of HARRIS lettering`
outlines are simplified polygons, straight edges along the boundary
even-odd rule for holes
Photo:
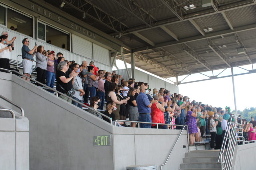
[[[11,27],[17,29],[19,33],[33,37],[33,18],[8,9],[7,28],[10,29]]]

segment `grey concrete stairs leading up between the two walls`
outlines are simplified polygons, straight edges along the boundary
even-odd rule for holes
[[[196,150],[185,153],[179,170],[221,170],[216,163],[220,150]]]

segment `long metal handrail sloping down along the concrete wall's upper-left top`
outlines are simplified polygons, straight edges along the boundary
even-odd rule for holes
[[[39,82],[39,81],[37,81],[37,80],[34,80],[34,79],[32,79],[32,78],[30,78],[30,77],[28,77],[28,76],[25,76],[24,74],[21,74],[20,72],[18,72],[18,71],[16,71],[16,70],[8,70],[8,69],[4,69],[4,68],[0,68],[0,70],[5,70],[5,71],[9,71],[9,72],[18,73],[19,75],[24,76],[24,77],[26,77],[26,78],[28,78],[28,79],[30,79],[30,80],[32,80],[32,81],[34,81],[34,82],[36,82],[36,83],[42,85],[42,86],[44,86],[44,87],[47,87],[49,90],[56,92],[56,96],[57,96],[58,94],[64,95],[63,93],[61,93],[61,92],[59,92],[59,91],[57,91],[57,90],[55,90],[55,89],[53,89],[53,88],[51,88],[51,87],[49,87],[49,86],[46,86],[45,84],[43,84],[43,83],[41,83],[41,82]],[[83,103],[81,103],[81,102],[76,101],[75,99],[73,99],[73,98],[71,98],[71,97],[69,97],[69,96],[66,96],[66,95],[65,95],[65,97],[71,99],[72,101],[74,101],[74,102],[76,102],[76,103],[78,103],[78,104],[80,104],[80,105],[82,105],[82,106],[84,106],[84,107],[86,107],[86,108],[88,108],[88,109],[93,110],[94,112],[97,112],[97,113],[100,114],[101,116],[103,116],[103,117],[109,119],[111,125],[113,124],[113,121],[112,121],[112,119],[111,119],[110,117],[108,117],[108,116],[106,116],[106,115],[100,113],[99,111],[96,111],[96,110],[92,109],[91,107],[89,107],[89,106],[87,106],[87,105],[85,105],[85,104],[83,104]]]

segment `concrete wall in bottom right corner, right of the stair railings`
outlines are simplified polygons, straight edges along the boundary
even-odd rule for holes
[[[233,170],[255,169],[256,143],[238,145],[232,161]]]

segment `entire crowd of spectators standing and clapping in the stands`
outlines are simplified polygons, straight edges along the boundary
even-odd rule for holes
[[[10,58],[15,38],[8,41],[8,33],[3,32],[0,36],[0,57]],[[188,96],[171,93],[169,90],[154,88],[153,95],[150,95],[149,84],[135,81],[131,78],[124,80],[122,75],[115,71],[107,72],[94,65],[91,61],[82,61],[81,65],[75,61],[65,60],[63,54],[45,50],[42,45],[35,45],[29,49],[29,40],[23,41],[22,65],[24,79],[30,81],[33,62],[36,62],[36,80],[40,83],[54,88],[56,79],[56,90],[63,93],[60,98],[70,102],[82,109],[80,103],[85,103],[91,109],[87,111],[100,119],[102,117],[97,110],[110,117],[112,121],[127,120],[134,121],[130,127],[136,127],[139,122],[161,123],[158,125],[163,129],[182,129],[188,126],[190,145],[202,140],[203,134],[211,134],[211,149],[220,149],[227,124],[231,119],[230,108],[225,110],[218,107],[202,104],[201,102],[190,101]],[[10,44],[10,45],[9,45]],[[8,60],[9,61],[9,60]],[[9,65],[6,67],[9,68]],[[38,86],[41,86],[37,83]],[[52,91],[49,91],[52,92]],[[90,100],[89,100],[90,99]],[[90,104],[89,102],[90,101]],[[106,101],[106,105],[105,104]],[[105,106],[105,109],[104,109]],[[256,121],[247,124],[245,119],[239,119],[242,124],[244,140],[256,140]],[[125,122],[119,121],[118,125],[128,126]],[[181,126],[176,126],[181,125]],[[141,128],[156,128],[156,124],[141,123]],[[216,145],[215,145],[216,144]]]

